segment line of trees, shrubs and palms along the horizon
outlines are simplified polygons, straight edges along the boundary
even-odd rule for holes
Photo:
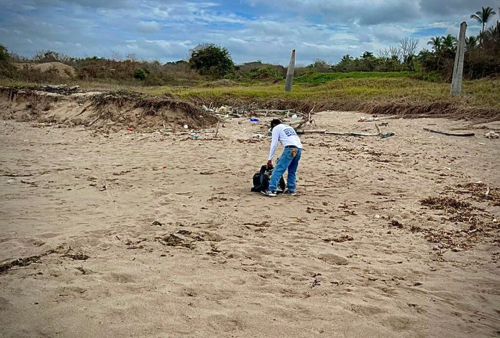
[[[498,8],[500,14],[500,7]],[[500,21],[487,26],[496,12],[491,7],[482,7],[470,18],[481,23],[477,35],[466,38],[464,75],[468,78],[479,78],[500,74]],[[456,38],[451,34],[432,37],[427,45],[430,50],[416,52],[419,41],[413,37],[399,40],[397,45],[379,49],[375,52],[365,51],[358,57],[343,55],[336,64],[322,59],[314,59],[306,67],[296,68],[295,75],[308,71],[316,72],[390,72],[414,71],[433,74],[441,79],[449,80],[456,50]],[[0,76],[15,77],[22,69],[8,66],[13,62],[50,62],[58,61],[73,66],[80,78],[93,80],[109,78],[127,80],[135,78],[148,85],[161,85],[179,77],[193,81],[202,78],[227,79],[270,79],[278,81],[283,78],[286,68],[279,65],[263,64],[261,61],[235,65],[227,48],[215,44],[200,44],[189,51],[188,60],[167,62],[139,61],[134,54],[124,59],[114,55],[111,59],[98,57],[73,58],[54,51],[37,52],[30,59],[10,54],[0,45]],[[11,63],[11,62],[10,62]],[[15,68],[15,69],[14,69]],[[27,74],[28,70],[24,69]],[[26,75],[24,74],[24,75]],[[38,77],[43,77],[38,74]],[[36,76],[35,76],[36,77]],[[36,78],[31,79],[36,81]]]

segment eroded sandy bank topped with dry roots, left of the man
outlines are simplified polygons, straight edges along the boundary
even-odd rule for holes
[[[36,88],[39,89],[39,88]],[[0,87],[0,118],[23,122],[82,125],[104,132],[212,126],[217,118],[191,103],[133,92],[57,94]]]

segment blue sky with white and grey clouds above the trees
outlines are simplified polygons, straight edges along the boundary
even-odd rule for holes
[[[0,43],[32,55],[128,53],[162,62],[188,58],[199,43],[226,47],[236,63],[338,62],[349,53],[396,45],[407,36],[420,49],[431,36],[480,29],[469,15],[500,0],[0,0]],[[498,14],[494,20],[498,19]],[[492,20],[493,21],[493,20]],[[491,23],[492,23],[491,21]]]

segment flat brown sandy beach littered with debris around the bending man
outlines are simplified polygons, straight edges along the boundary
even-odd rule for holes
[[[374,131],[359,117],[315,120]],[[250,192],[263,122],[0,121],[0,264],[24,259],[0,273],[0,336],[498,337],[499,140],[388,121],[303,135],[297,195],[275,198]]]

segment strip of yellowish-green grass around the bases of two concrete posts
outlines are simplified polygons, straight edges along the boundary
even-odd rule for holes
[[[495,79],[464,81],[464,95],[449,96],[449,83],[428,82],[410,77],[338,78],[325,84],[311,86],[296,83],[289,93],[283,91],[283,82],[278,84],[252,84],[195,87],[140,87],[141,92],[151,95],[177,95],[182,98],[200,99],[203,102],[294,99],[322,102],[346,101],[393,101],[429,102],[452,100],[467,107],[500,108],[500,83]]]

